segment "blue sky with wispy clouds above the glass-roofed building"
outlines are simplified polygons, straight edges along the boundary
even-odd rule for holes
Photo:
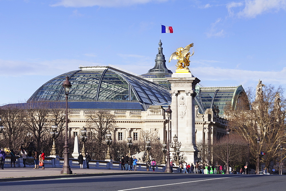
[[[285,13],[286,0],[0,0],[0,105],[80,64],[147,73],[160,38],[166,60],[194,43],[189,68],[204,86],[286,87]]]

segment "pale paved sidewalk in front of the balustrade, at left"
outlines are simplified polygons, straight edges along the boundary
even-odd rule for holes
[[[21,180],[39,180],[50,178],[68,178],[81,176],[104,176],[120,174],[141,174],[141,173],[164,173],[164,172],[146,172],[146,171],[125,171],[125,170],[105,170],[105,169],[80,169],[72,168],[73,174],[60,174],[61,168],[45,168],[45,170],[33,169],[31,167],[6,167],[0,170],[0,182],[21,181]]]

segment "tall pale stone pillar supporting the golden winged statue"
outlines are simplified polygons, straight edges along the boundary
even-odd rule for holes
[[[197,162],[195,135],[195,86],[200,80],[192,73],[174,73],[167,78],[171,83],[172,95],[172,137],[176,134],[182,143],[181,155],[186,157],[187,164]],[[173,141],[173,140],[171,140]]]

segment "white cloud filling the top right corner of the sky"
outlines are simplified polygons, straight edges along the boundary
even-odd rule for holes
[[[244,8],[235,13],[235,7]],[[229,16],[255,18],[257,15],[271,11],[279,11],[280,9],[286,9],[286,0],[245,0],[242,2],[231,2],[227,4],[227,10]]]

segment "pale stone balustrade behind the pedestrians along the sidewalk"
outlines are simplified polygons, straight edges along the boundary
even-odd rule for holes
[[[16,167],[22,167],[23,159],[21,156],[16,156]],[[5,158],[4,167],[9,167],[11,164],[11,157],[9,155]],[[62,168],[63,167],[63,158],[53,158],[53,157],[45,157],[44,160],[45,168]],[[102,161],[102,160],[90,160],[89,168],[91,169],[111,169],[111,170],[121,170],[120,162],[115,161]],[[70,158],[69,165],[71,168],[80,168],[80,164],[78,159]],[[34,164],[27,164],[27,167],[34,167]],[[83,167],[86,168],[86,160],[84,160]],[[136,165],[138,171],[147,171],[146,164],[137,164]],[[149,169],[151,170],[152,167],[150,166]],[[155,172],[165,172],[166,166],[156,165]],[[176,166],[173,166],[173,172],[180,172],[180,169]]]

